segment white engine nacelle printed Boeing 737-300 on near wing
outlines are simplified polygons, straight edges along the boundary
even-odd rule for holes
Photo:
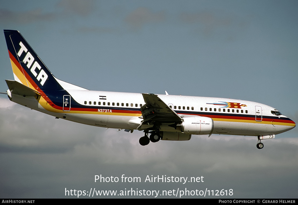
[[[183,122],[177,125],[176,130],[185,134],[211,134],[214,129],[213,119],[210,117],[184,117]]]

